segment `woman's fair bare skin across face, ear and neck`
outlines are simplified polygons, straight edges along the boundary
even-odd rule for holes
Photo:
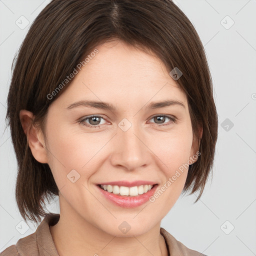
[[[191,159],[197,148],[186,95],[157,57],[119,40],[97,49],[50,104],[46,137],[30,125],[33,114],[20,111],[31,152],[37,161],[48,163],[59,189],[60,219],[50,226],[52,238],[60,256],[167,255],[160,222],[178,199],[187,169],[154,202],[135,208],[108,201],[96,184],[150,180],[161,187]],[[116,110],[67,109],[85,99],[111,103]],[[165,99],[179,100],[185,107],[146,108],[152,101]],[[160,114],[174,116],[176,122],[168,117],[157,122],[153,116]],[[79,123],[89,115],[103,116],[83,121],[94,126],[100,123],[99,127]],[[131,123],[127,131],[118,127],[123,118]],[[74,183],[66,176],[72,169],[80,175]],[[126,234],[118,229],[123,221],[131,226]]]

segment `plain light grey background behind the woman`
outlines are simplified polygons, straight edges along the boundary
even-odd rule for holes
[[[0,251],[36,229],[29,223],[26,230],[20,222],[14,200],[17,165],[4,117],[13,56],[48,2],[0,0]],[[219,127],[212,182],[195,204],[198,193],[180,196],[161,226],[208,256],[256,255],[256,0],[175,2],[205,47]],[[24,29],[22,15],[29,21]],[[59,212],[58,197],[47,209]]]

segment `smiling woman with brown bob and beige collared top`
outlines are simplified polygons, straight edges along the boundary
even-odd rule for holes
[[[201,196],[217,139],[203,46],[172,1],[52,0],[7,101],[17,205],[44,218],[1,256],[202,255],[160,227],[180,193]]]

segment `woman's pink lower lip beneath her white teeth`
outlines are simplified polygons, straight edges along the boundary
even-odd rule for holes
[[[114,194],[114,193],[109,193],[107,191],[105,191],[104,189],[100,188],[97,185],[98,189],[100,190],[100,192],[111,202],[113,202],[114,204],[121,206],[121,207],[125,207],[125,208],[133,208],[133,207],[137,207],[142,205],[143,203],[145,203],[150,196],[153,195],[153,193],[156,190],[157,184],[154,185],[151,190],[149,190],[146,193],[143,194],[138,194],[136,196],[131,196],[131,195],[118,195],[118,194]]]

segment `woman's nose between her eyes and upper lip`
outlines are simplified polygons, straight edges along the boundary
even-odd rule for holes
[[[111,164],[127,170],[145,167],[152,159],[152,152],[147,146],[146,133],[138,125],[131,123],[126,130],[117,127],[112,141]]]

